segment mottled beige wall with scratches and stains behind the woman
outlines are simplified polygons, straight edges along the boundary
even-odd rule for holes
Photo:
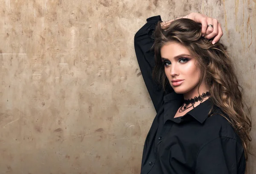
[[[155,111],[134,34],[190,12],[223,26],[254,145],[255,0],[0,0],[0,173],[138,174]]]

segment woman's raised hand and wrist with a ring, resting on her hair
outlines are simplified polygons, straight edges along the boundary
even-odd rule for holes
[[[195,22],[201,23],[202,36],[204,36],[204,38],[211,39],[215,36],[215,38],[212,40],[212,44],[215,44],[216,42],[218,42],[221,39],[221,36],[223,35],[221,24],[218,22],[218,20],[211,18],[211,17],[207,17],[204,14],[190,13],[184,17],[179,17],[176,19],[180,19],[180,18],[189,18],[191,20],[194,20]],[[174,20],[162,22],[161,23],[162,28],[169,25],[172,21],[174,21]],[[213,28],[207,27],[207,25],[209,25],[209,24],[213,25]]]

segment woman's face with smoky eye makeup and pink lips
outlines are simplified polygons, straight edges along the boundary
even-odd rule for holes
[[[160,52],[166,76],[175,93],[197,93],[200,69],[189,50],[177,42],[168,42]]]

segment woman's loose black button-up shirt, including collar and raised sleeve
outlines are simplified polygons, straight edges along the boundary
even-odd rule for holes
[[[244,150],[239,136],[211,98],[182,117],[174,118],[183,95],[164,93],[152,79],[152,33],[160,16],[147,19],[134,37],[143,79],[157,115],[143,149],[141,174],[244,174]],[[207,116],[213,106],[215,115]]]

